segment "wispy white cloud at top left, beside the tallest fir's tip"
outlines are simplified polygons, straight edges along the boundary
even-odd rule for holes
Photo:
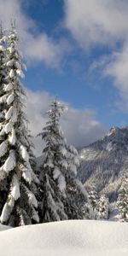
[[[38,32],[35,21],[26,15],[25,6],[24,0],[0,0],[0,20],[3,26],[9,28],[10,20],[15,19],[26,61],[31,64],[44,61],[49,67],[58,68],[62,55],[68,51],[67,42],[55,42],[45,32]]]

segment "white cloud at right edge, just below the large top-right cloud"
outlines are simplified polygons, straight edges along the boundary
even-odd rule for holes
[[[113,51],[111,55],[103,55],[94,61],[89,68],[91,74],[97,71],[102,78],[111,77],[113,86],[119,92],[119,100],[114,102],[119,110],[128,111],[128,41],[125,41],[119,51]]]

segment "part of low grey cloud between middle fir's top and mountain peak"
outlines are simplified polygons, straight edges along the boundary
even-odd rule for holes
[[[104,134],[103,125],[90,109],[70,108],[61,121],[68,143],[76,148],[95,142]]]

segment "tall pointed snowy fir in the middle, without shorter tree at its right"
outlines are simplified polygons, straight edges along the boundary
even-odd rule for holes
[[[48,111],[49,120],[43,133],[40,134],[46,143],[43,151],[44,164],[41,166],[40,172],[41,222],[67,219],[61,202],[61,190],[63,187],[65,188],[65,179],[58,167],[58,164],[60,165],[60,141],[62,140],[59,120],[63,110],[63,107],[57,102],[51,104],[51,109]]]

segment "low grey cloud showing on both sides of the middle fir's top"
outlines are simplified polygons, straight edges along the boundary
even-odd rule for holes
[[[54,98],[47,92],[27,90],[26,114],[30,121],[29,128],[34,137],[40,133],[46,124],[46,111]],[[61,119],[61,127],[67,142],[75,147],[83,147],[96,141],[104,134],[103,125],[96,120],[95,113],[89,109],[80,110],[69,107]],[[34,138],[36,154],[42,153],[44,143],[41,137]]]

